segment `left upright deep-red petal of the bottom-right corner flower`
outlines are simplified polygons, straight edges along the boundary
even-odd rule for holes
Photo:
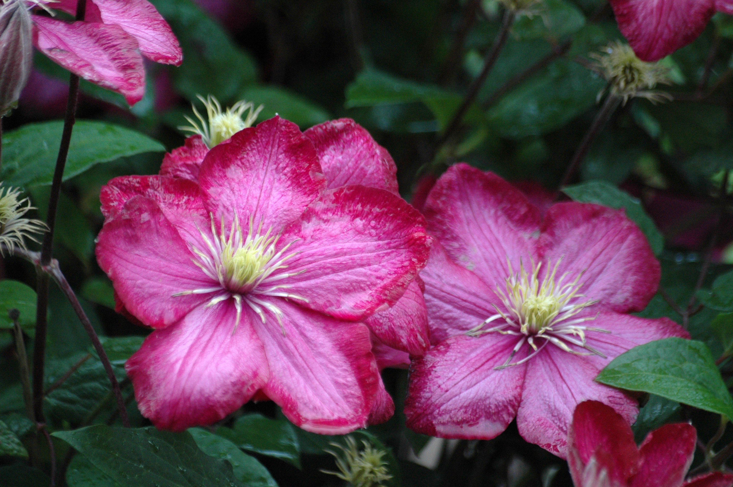
[[[625,486],[638,472],[641,457],[631,428],[620,414],[603,403],[578,404],[567,442],[567,460],[576,486],[592,485],[588,483],[589,473],[600,474],[603,470],[611,485]],[[595,465],[588,468],[592,462]]]

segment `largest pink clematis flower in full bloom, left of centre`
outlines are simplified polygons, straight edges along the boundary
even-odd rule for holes
[[[379,378],[359,321],[402,297],[431,239],[387,190],[329,189],[319,150],[276,117],[210,150],[195,135],[161,175],[103,189],[97,260],[155,328],[125,367],[159,428],[213,423],[258,391],[309,431],[367,423]]]

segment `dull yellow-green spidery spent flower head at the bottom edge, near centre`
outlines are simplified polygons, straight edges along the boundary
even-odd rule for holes
[[[353,487],[376,487],[390,480],[392,476],[389,475],[386,461],[382,458],[386,452],[378,450],[365,439],[361,440],[361,443],[364,445],[361,450],[359,450],[358,444],[352,436],[346,437],[346,447],[338,443],[331,443],[343,452],[343,455],[341,455],[333,450],[324,450],[336,457],[336,466],[339,467],[339,472],[328,470],[321,470],[321,472],[336,475],[336,477],[347,481]]]

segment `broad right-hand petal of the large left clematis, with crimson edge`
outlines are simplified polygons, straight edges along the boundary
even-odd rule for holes
[[[402,198],[373,187],[327,190],[283,235],[299,252],[281,283],[304,306],[362,319],[402,297],[427,259],[424,219]],[[302,272],[301,272],[302,271]]]

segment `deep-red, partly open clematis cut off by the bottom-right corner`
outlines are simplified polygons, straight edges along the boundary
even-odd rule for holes
[[[598,401],[578,404],[568,434],[568,463],[575,487],[731,487],[733,475],[711,472],[685,482],[695,453],[692,425],[652,431],[636,447],[628,423]]]

